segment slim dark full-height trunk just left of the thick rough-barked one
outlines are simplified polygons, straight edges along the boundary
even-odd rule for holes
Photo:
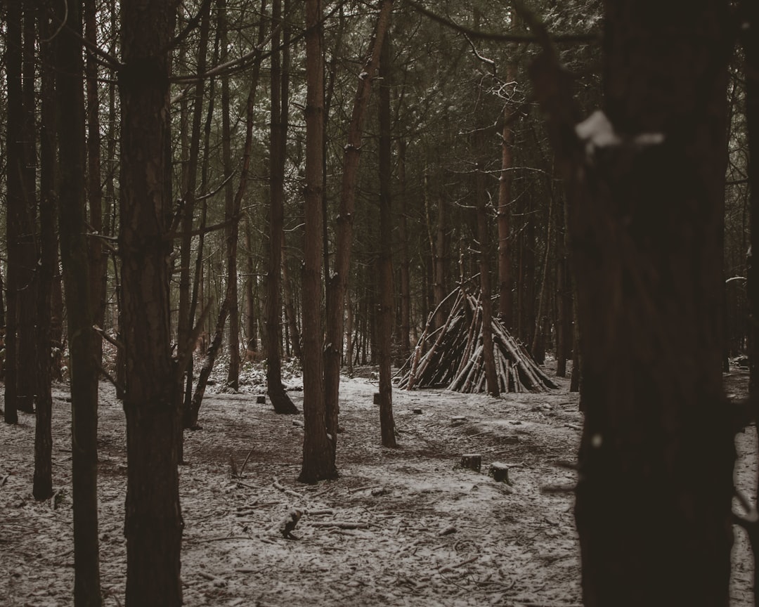
[[[84,208],[84,93],[81,2],[68,5],[58,37],[56,96],[60,150],[61,263],[71,358],[71,456],[74,495],[74,604],[100,605],[97,517],[97,379]],[[59,14],[62,14],[61,11]],[[46,230],[50,231],[49,226]]]

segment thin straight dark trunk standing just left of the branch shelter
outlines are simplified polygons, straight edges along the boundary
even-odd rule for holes
[[[395,420],[392,417],[392,143],[390,116],[390,37],[383,40],[379,57],[379,259],[377,291],[377,341],[379,346],[379,427],[385,447],[395,442]]]

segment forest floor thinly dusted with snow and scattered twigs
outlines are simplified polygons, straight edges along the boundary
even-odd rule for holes
[[[561,463],[576,458],[582,417],[567,381],[547,394],[501,398],[396,390],[400,448],[388,449],[379,445],[376,381],[364,372],[341,386],[340,477],[316,486],[296,480],[302,415],[257,404],[260,373],[244,376],[241,393],[206,395],[203,429],[185,434],[180,468],[185,604],[580,605],[567,490],[575,472]],[[747,379],[730,373],[726,388],[741,395]],[[298,381],[286,383],[300,408]],[[65,385],[54,395],[57,491],[48,502],[31,495],[34,418],[0,423],[0,605],[73,603],[70,405]],[[102,591],[106,605],[122,605],[124,414],[108,385],[100,398]],[[736,439],[737,477],[751,494],[754,436],[751,426]],[[481,473],[458,466],[467,453],[482,455]],[[493,461],[509,465],[510,485],[487,475]],[[298,539],[279,533],[291,508],[304,510]],[[731,604],[748,607],[753,565],[742,532],[734,552]]]

